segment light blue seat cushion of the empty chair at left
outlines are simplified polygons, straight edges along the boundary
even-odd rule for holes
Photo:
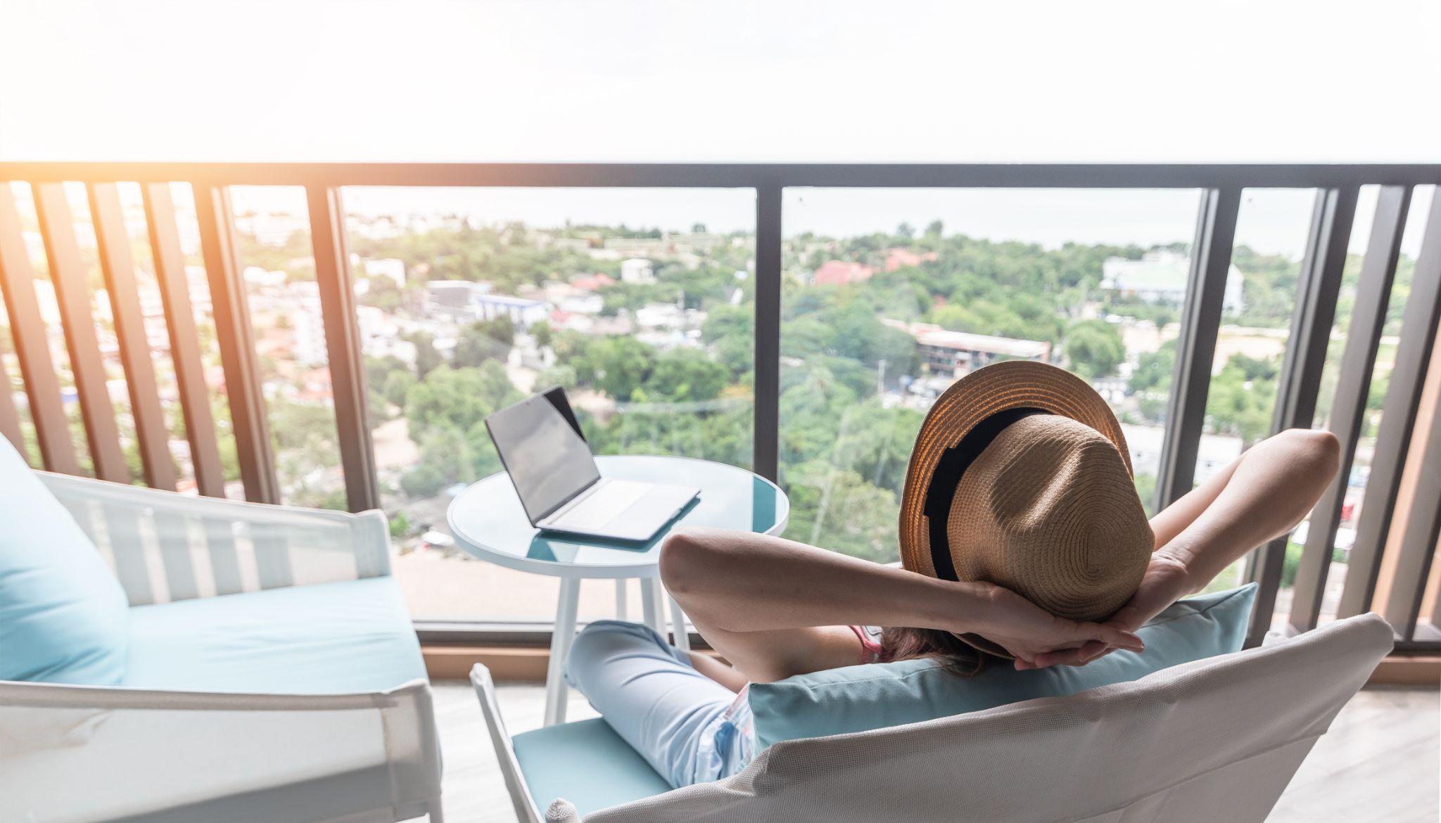
[[[130,610],[125,686],[190,692],[379,692],[425,679],[393,578]]]

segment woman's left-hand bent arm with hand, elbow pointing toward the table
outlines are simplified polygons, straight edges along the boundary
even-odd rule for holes
[[[1025,660],[1087,640],[1140,644],[1115,627],[1046,614],[1000,587],[749,532],[676,532],[661,548],[660,577],[700,634],[751,680],[855,664],[860,646],[847,624],[976,631]]]

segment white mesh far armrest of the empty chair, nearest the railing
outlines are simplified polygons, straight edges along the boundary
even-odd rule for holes
[[[110,553],[131,605],[391,574],[379,510],[352,515],[36,474]]]

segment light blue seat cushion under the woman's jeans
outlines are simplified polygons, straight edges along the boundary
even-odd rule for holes
[[[519,734],[510,742],[542,813],[556,797],[585,816],[670,791],[666,778],[599,718]]]

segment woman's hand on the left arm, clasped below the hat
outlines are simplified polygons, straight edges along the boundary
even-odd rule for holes
[[[980,594],[989,608],[984,617],[964,631],[974,631],[1000,644],[1016,657],[1016,669],[1038,669],[1048,654],[1066,653],[1094,644],[1095,649],[1111,646],[1141,651],[1141,639],[1127,628],[1101,623],[1076,623],[1056,617],[1019,594],[993,584],[971,584],[983,587]]]

